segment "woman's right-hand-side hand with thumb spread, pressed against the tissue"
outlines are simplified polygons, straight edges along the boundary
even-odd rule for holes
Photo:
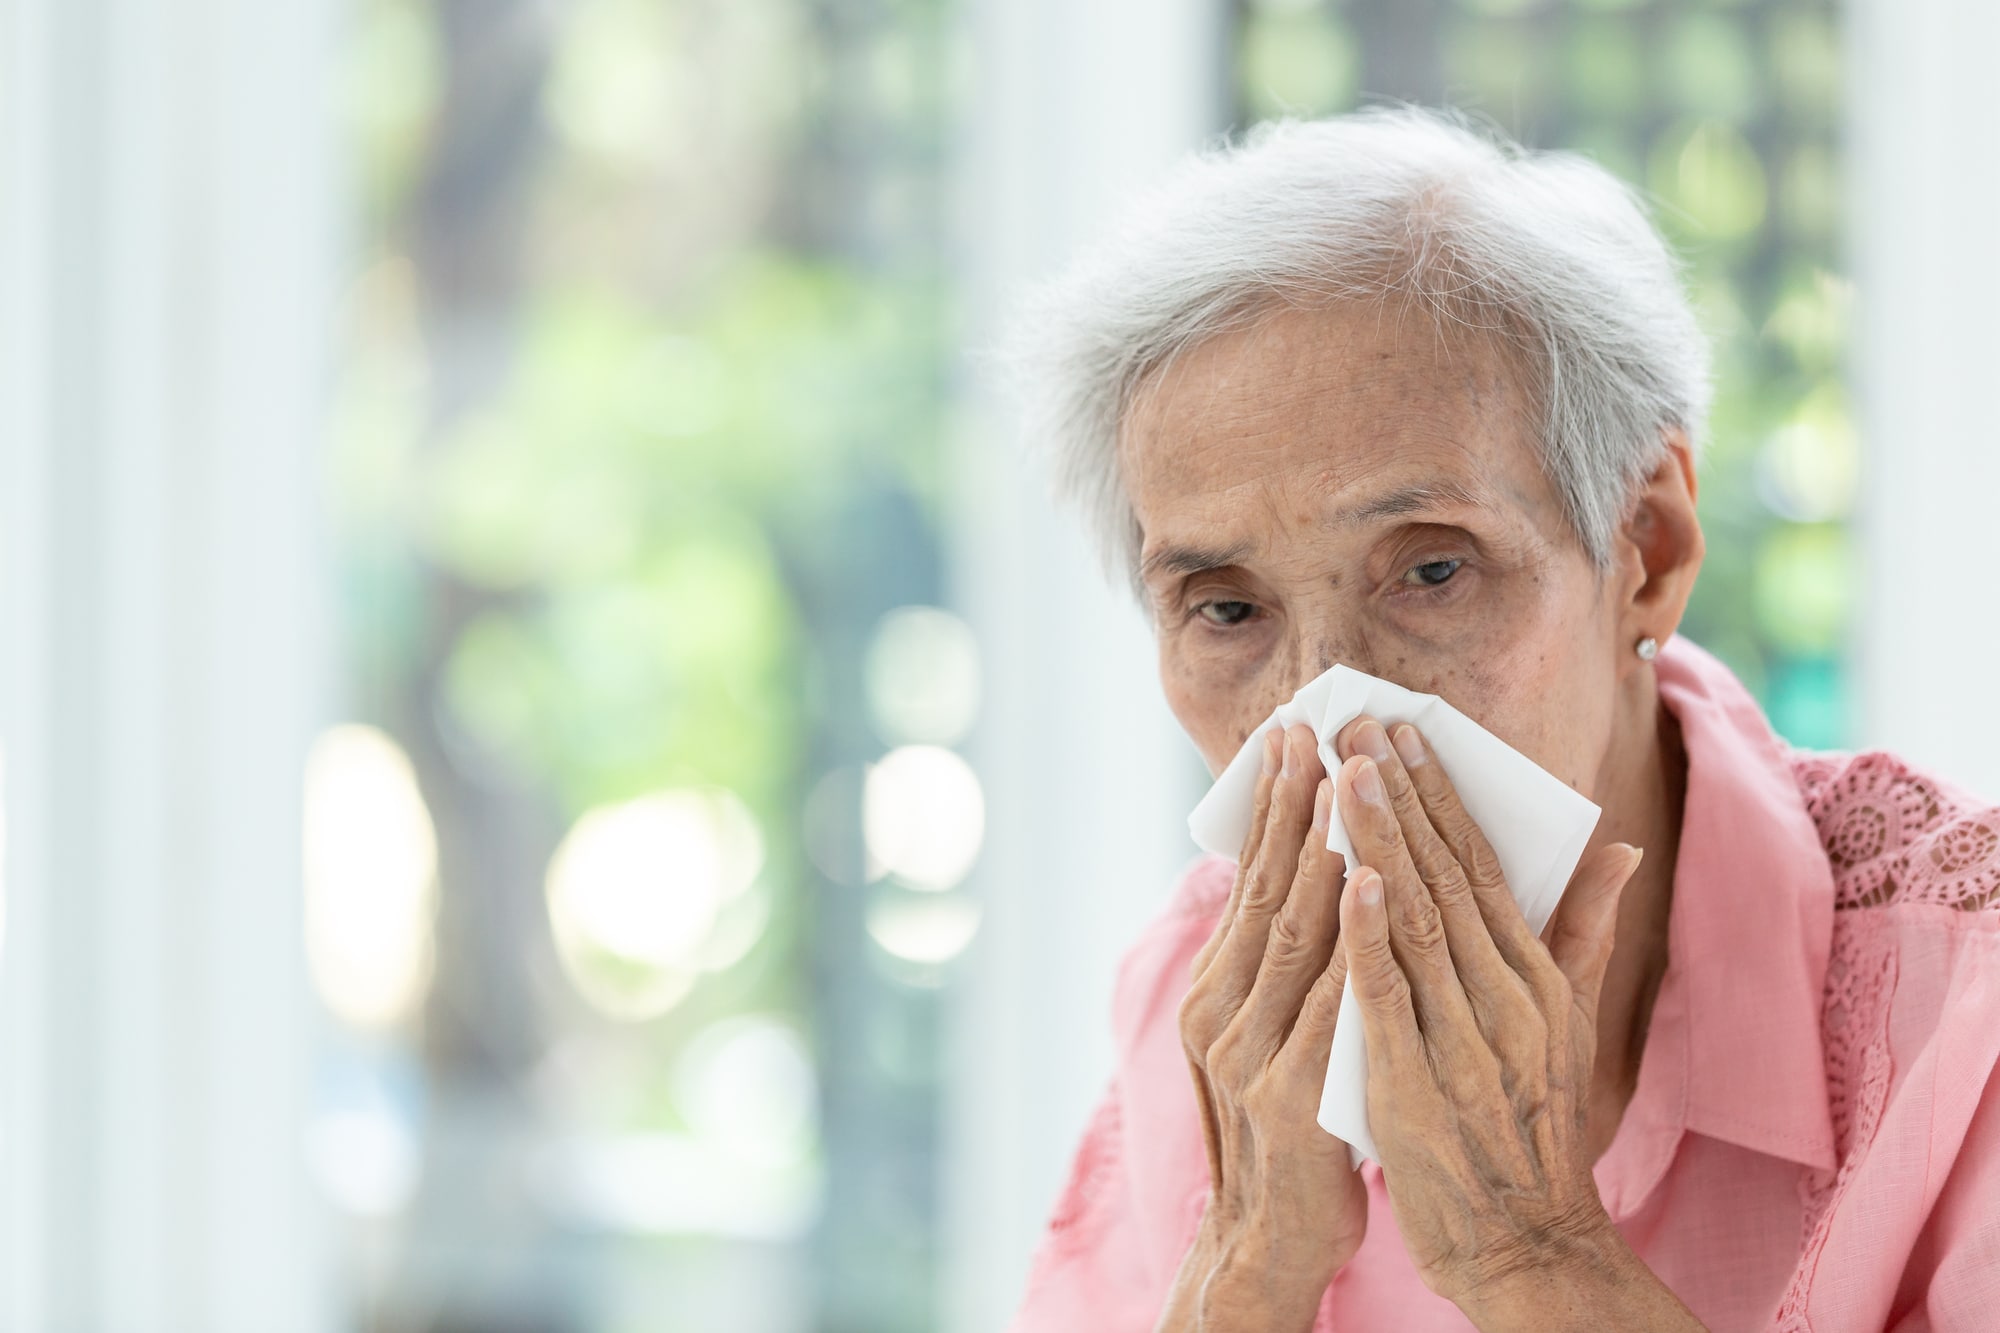
[[[1590,1171],[1598,991],[1638,849],[1584,859],[1544,947],[1414,727],[1390,745],[1358,719],[1340,749],[1368,1125],[1424,1283],[1482,1329],[1700,1327],[1624,1245]]]

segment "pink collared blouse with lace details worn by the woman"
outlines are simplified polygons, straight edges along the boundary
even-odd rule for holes
[[[1666,977],[1596,1163],[1612,1221],[1710,1329],[2000,1329],[2000,807],[1790,749],[1684,638],[1654,664],[1688,797]],[[1176,1009],[1232,875],[1196,861],[1118,967],[1118,1063],[1014,1333],[1160,1317],[1208,1201]],[[1368,1239],[1314,1333],[1470,1329],[1362,1171]]]

